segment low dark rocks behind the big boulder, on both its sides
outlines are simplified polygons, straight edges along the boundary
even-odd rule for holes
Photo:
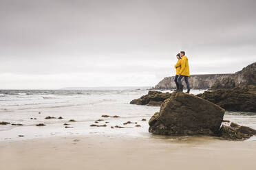
[[[239,86],[233,89],[205,91],[198,97],[206,99],[229,111],[256,112],[256,86]],[[134,99],[130,104],[161,106],[171,93],[150,90],[147,95]]]

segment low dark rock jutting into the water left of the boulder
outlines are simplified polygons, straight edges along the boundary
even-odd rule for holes
[[[160,91],[149,90],[147,95],[143,95],[139,99],[134,99],[130,104],[160,106],[162,101],[171,97],[171,93],[162,93]]]

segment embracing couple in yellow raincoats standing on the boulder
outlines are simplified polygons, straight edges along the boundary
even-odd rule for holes
[[[184,77],[184,80],[186,82],[186,93],[189,93],[190,87],[189,87],[189,59],[185,56],[184,51],[180,51],[180,53],[177,54],[178,62],[175,64],[176,69],[176,75],[175,75],[175,84],[177,86],[177,91],[183,91],[183,85],[182,85],[182,78]]]

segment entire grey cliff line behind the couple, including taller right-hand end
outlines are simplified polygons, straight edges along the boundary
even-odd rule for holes
[[[174,89],[176,88],[174,78],[174,76],[164,77],[152,89]],[[186,87],[184,81],[182,81],[182,84]],[[191,75],[189,84],[193,89],[234,88],[236,86],[256,85],[256,62],[233,74]]]

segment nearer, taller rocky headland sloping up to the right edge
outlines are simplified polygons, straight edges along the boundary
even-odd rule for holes
[[[242,71],[217,79],[211,89],[235,88],[237,86],[256,85],[256,62],[246,66]]]

